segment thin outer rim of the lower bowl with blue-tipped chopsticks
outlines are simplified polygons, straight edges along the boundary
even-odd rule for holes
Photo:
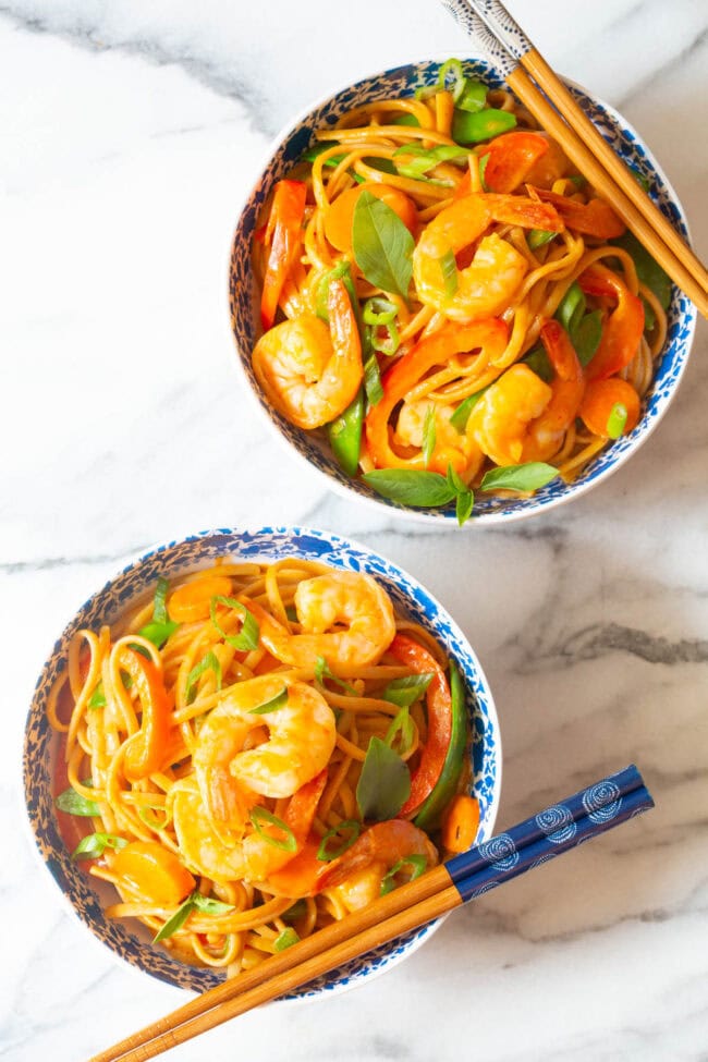
[[[286,536],[288,538],[291,537],[292,538],[301,538],[301,537],[315,538],[330,546],[334,546],[334,547],[341,546],[346,549],[352,549],[355,552],[357,552],[362,559],[374,558],[375,560],[383,561],[390,569],[393,570],[396,577],[399,575],[403,576],[403,578],[408,583],[411,583],[416,589],[423,591],[423,594],[427,599],[426,605],[431,605],[435,610],[441,613],[442,618],[444,618],[444,621],[449,626],[450,633],[454,636],[454,638],[456,638],[461,643],[464,652],[468,658],[468,662],[472,664],[474,673],[476,674],[479,684],[484,688],[485,701],[487,708],[487,718],[489,720],[492,732],[495,734],[495,782],[489,797],[487,821],[484,823],[484,830],[481,837],[483,841],[487,841],[493,834],[495,823],[499,813],[499,805],[501,798],[501,785],[502,785],[502,772],[503,772],[503,746],[502,746],[499,716],[497,712],[497,707],[495,704],[493,694],[491,692],[489,680],[487,679],[487,675],[481,667],[479,658],[477,657],[477,654],[472,647],[469,639],[467,638],[463,630],[460,627],[455,619],[448,611],[448,609],[438,600],[438,598],[434,594],[431,594],[427,589],[427,587],[423,585],[423,583],[420,583],[420,581],[417,577],[411,575],[411,573],[406,569],[402,567],[396,561],[392,561],[389,558],[383,557],[381,553],[378,553],[376,550],[370,549],[368,546],[365,546],[358,540],[350,538],[349,536],[344,537],[333,532],[328,532],[320,528],[312,528],[300,524],[293,524],[293,525],[279,524],[272,526],[267,525],[261,527],[253,527],[253,526],[228,527],[228,528],[215,527],[215,528],[196,532],[188,535],[183,535],[176,539],[158,541],[152,544],[148,548],[142,550],[139,553],[127,554],[127,557],[130,558],[127,562],[118,571],[115,571],[111,576],[109,576],[109,578],[106,579],[102,586],[95,589],[86,598],[86,600],[84,600],[81,605],[78,605],[70,612],[66,621],[64,622],[61,628],[61,633],[54,639],[49,654],[46,656],[45,661],[39,670],[37,680],[32,688],[32,694],[29,696],[29,707],[25,718],[25,725],[22,732],[22,756],[21,756],[20,770],[21,770],[21,794],[22,794],[21,799],[22,799],[24,814],[21,817],[23,820],[23,830],[25,831],[25,835],[29,842],[30,849],[35,854],[35,858],[44,867],[46,875],[49,876],[49,878],[53,881],[56,886],[56,890],[49,890],[49,891],[53,895],[57,894],[57,891],[59,892],[61,896],[61,903],[64,905],[64,910],[69,911],[73,915],[73,920],[77,921],[81,925],[85,933],[90,937],[94,944],[101,950],[103,955],[108,954],[109,956],[111,956],[113,962],[118,963],[122,968],[129,969],[133,976],[148,977],[152,981],[166,984],[171,988],[182,989],[186,991],[198,991],[199,989],[185,988],[182,985],[175,984],[174,981],[171,981],[167,978],[159,976],[155,972],[150,972],[144,968],[144,966],[141,965],[139,962],[132,962],[125,955],[117,951],[110,944],[110,942],[103,940],[95,930],[91,919],[88,916],[84,916],[76,908],[75,904],[70,899],[70,895],[68,894],[65,889],[60,884],[60,882],[56,879],[54,875],[51,872],[50,867],[48,865],[48,860],[44,858],[42,853],[40,851],[39,837],[38,837],[38,829],[40,827],[40,823],[37,821],[37,816],[33,815],[33,813],[30,811],[29,804],[28,804],[29,789],[34,784],[32,768],[33,768],[33,764],[35,762],[34,759],[30,758],[30,756],[28,755],[28,728],[33,719],[33,715],[35,712],[36,698],[40,692],[42,680],[51,662],[53,661],[54,657],[60,651],[61,643],[69,636],[69,633],[72,626],[74,625],[78,613],[82,612],[88,606],[90,606],[90,603],[95,600],[95,598],[97,598],[100,594],[107,591],[122,576],[129,576],[139,571],[139,569],[155,556],[167,553],[173,549],[180,549],[190,542],[204,541],[205,544],[207,544],[212,538],[217,538],[217,537],[224,538],[231,536],[242,540],[247,536],[263,536],[267,534]],[[228,548],[229,547],[224,545],[224,551],[228,550]],[[264,549],[263,557],[265,558],[267,557],[267,554],[268,551]],[[325,558],[325,562],[327,562],[327,560],[328,559]],[[186,569],[184,569],[184,571],[185,572],[198,571],[199,570],[198,564],[199,562],[195,561],[194,564],[188,565]],[[337,565],[332,564],[332,566],[337,566]],[[139,597],[139,594],[137,595],[137,597]],[[56,736],[54,736],[54,742],[56,742]],[[52,805],[53,805],[53,801],[52,801]],[[42,876],[42,880],[44,881],[47,880],[46,876]],[[296,1005],[302,1003],[309,1003],[330,996],[338,996],[359,987],[361,985],[371,980],[373,978],[387,973],[389,969],[393,968],[394,966],[398,966],[399,963],[403,962],[405,959],[408,957],[408,955],[412,955],[415,951],[417,951],[418,948],[420,948],[428,940],[428,938],[431,937],[440,928],[442,923],[448,917],[448,914],[449,913],[441,915],[434,921],[429,923],[427,926],[420,927],[417,936],[407,942],[405,950],[400,951],[398,953],[392,953],[391,955],[387,956],[386,962],[382,962],[374,967],[370,967],[365,972],[359,972],[350,975],[347,977],[344,977],[343,979],[335,980],[332,985],[327,986],[326,988],[318,986],[307,994],[289,994],[285,997],[281,997],[274,1000],[273,1002],[279,1003],[281,1005],[284,1004]]]

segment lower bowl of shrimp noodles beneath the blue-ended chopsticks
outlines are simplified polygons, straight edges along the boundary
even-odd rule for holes
[[[218,530],[78,610],[37,682],[24,779],[74,914],[202,992],[486,840],[501,745],[474,652],[414,578],[322,532]],[[358,985],[436,925],[288,998]]]

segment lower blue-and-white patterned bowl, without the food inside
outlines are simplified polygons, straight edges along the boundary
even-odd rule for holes
[[[219,557],[242,561],[294,557],[321,561],[345,571],[367,572],[377,578],[395,608],[435,636],[464,678],[472,735],[469,791],[479,799],[481,813],[478,842],[492,833],[501,788],[499,723],[479,662],[442,606],[416,579],[390,561],[325,532],[265,527],[259,530],[204,532],[156,547],[129,564],[82,606],[60,635],[39,675],[25,732],[23,768],[27,814],[45,866],[74,914],[94,936],[131,966],[195,992],[218,985],[223,974],[186,966],[172,959],[169,952],[151,943],[148,930],[134,919],[123,923],[106,918],[105,907],[117,900],[113,887],[89,877],[80,864],[71,862],[52,803],[60,740],[47,721],[47,697],[57,675],[65,667],[69,643],[76,631],[83,627],[97,631],[101,624],[114,622],[135,603],[148,600],[158,576],[169,579],[198,571]],[[392,944],[382,944],[286,998],[312,999],[361,985],[411,954],[439,924],[415,930]]]

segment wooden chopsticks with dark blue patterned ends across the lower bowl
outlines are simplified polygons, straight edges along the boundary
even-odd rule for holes
[[[569,849],[654,807],[634,766],[454,856],[364,911],[227,980],[90,1062],[145,1062],[254,1006],[291,992]]]

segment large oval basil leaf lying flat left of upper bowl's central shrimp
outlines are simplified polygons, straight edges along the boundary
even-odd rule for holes
[[[413,236],[398,213],[370,192],[362,192],[354,208],[352,248],[368,282],[407,301],[413,247]]]

